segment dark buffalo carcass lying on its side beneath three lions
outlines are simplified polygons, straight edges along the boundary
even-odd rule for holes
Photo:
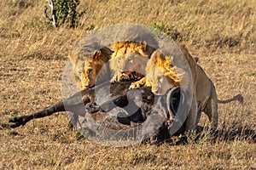
[[[93,133],[103,127],[123,131],[143,124],[141,128],[131,128],[129,133],[136,133],[137,139],[140,140],[152,136],[158,140],[168,139],[170,137],[168,130],[175,119],[177,107],[180,105],[179,102],[183,101],[180,99],[183,97],[180,95],[182,92],[180,88],[173,88],[165,95],[157,96],[151,92],[151,88],[129,89],[130,85],[131,82],[114,84],[103,82],[32,115],[10,118],[9,127],[20,127],[32,119],[50,116],[55,112],[71,111],[73,116],[83,117],[86,122],[85,127],[89,127]],[[114,121],[103,125],[102,122],[109,119],[110,113],[111,120],[114,119]],[[73,123],[80,122],[73,119]],[[98,127],[99,124],[102,127]]]

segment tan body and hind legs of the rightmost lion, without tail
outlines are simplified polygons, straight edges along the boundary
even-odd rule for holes
[[[189,54],[189,51],[184,46],[180,46],[185,59],[189,63],[189,68],[193,77],[193,101],[192,105],[197,105],[197,112],[190,111],[187,119],[186,127],[195,127],[200,120],[201,112],[203,111],[208,116],[209,121],[212,123],[212,129],[218,127],[218,97],[216,89],[205,71],[201,66],[196,63],[196,60]],[[191,110],[191,109],[190,109]],[[192,113],[193,112],[193,113]],[[195,119],[196,117],[196,119]]]

